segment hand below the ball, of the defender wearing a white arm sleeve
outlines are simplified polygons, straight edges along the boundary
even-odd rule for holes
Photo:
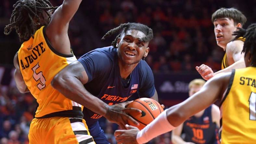
[[[138,144],[136,140],[139,129],[134,126],[125,125],[127,130],[116,130],[115,138],[117,144]]]

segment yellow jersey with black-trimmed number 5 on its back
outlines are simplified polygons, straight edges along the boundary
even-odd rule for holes
[[[19,68],[22,77],[37,100],[36,118],[53,116],[83,118],[82,106],[63,96],[51,86],[54,76],[76,60],[73,54],[58,53],[48,41],[45,28],[41,27],[19,51]]]

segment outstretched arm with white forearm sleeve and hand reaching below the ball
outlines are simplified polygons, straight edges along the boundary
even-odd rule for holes
[[[174,105],[161,113],[155,120],[139,131],[127,126],[129,130],[117,130],[115,137],[118,143],[146,143],[154,137],[173,130],[190,116],[206,109],[223,95],[231,73],[223,73],[212,78],[203,88],[186,101]]]

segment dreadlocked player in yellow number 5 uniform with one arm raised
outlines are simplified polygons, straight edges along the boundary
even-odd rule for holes
[[[76,60],[68,27],[81,2],[64,0],[57,8],[48,0],[20,0],[5,27],[5,34],[16,29],[23,42],[14,57],[16,85],[22,93],[31,92],[38,102],[30,143],[95,143],[82,119],[83,107],[51,86],[53,77]]]

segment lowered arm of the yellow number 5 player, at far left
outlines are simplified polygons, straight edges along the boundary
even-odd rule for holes
[[[25,84],[25,82],[22,78],[20,69],[19,69],[18,52],[14,56],[13,63],[16,68],[14,71],[14,80],[15,80],[15,83],[16,83],[16,86],[17,86],[19,92],[21,92],[21,93],[29,92],[29,89],[28,89],[27,85]]]

